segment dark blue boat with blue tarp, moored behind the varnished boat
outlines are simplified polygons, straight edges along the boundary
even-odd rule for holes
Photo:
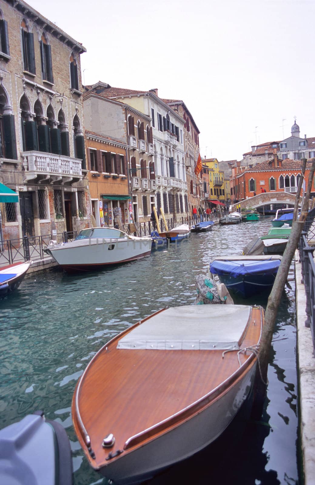
[[[248,298],[271,291],[282,256],[230,256],[215,258],[210,273],[218,275],[229,291]]]

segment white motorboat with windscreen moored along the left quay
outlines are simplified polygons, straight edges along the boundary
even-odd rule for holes
[[[72,242],[50,241],[45,251],[66,271],[88,271],[149,256],[152,239],[112,227],[83,229]]]

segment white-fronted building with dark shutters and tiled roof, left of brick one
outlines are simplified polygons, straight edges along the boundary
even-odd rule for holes
[[[147,166],[150,167],[149,176],[155,175],[155,179],[150,179],[150,187],[155,189],[155,206],[157,208],[162,207],[166,217],[171,216],[178,219],[187,215],[189,209],[183,118],[158,97],[157,89],[136,91],[111,87],[108,84],[106,86],[102,96],[127,104],[151,119],[152,135],[149,134],[148,138],[150,130],[147,131],[147,134],[145,130],[146,139],[142,140],[143,134],[141,134],[138,141],[141,141],[143,147],[141,149],[146,148],[146,157],[151,154],[152,162],[154,162],[154,164]],[[136,128],[138,129],[138,127]],[[148,128],[150,128],[149,124],[147,130]],[[140,129],[142,130],[141,123]],[[130,126],[128,125],[128,137],[134,137],[132,122]],[[135,143],[135,139],[131,138],[131,141]],[[129,144],[132,146],[130,142]],[[138,168],[135,166],[134,170],[138,170]],[[133,167],[131,167],[131,170],[133,170]],[[148,169],[145,175],[148,176]],[[136,195],[133,195],[133,206],[136,197]],[[150,198],[151,205],[153,205],[153,195]]]

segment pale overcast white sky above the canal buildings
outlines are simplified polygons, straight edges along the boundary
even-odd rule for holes
[[[291,136],[294,116],[315,136],[314,0],[28,3],[87,49],[83,83],[182,99],[201,157],[241,160]]]

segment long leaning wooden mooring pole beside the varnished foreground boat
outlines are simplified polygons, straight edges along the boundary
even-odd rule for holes
[[[304,160],[303,160],[304,165]],[[273,337],[273,328],[277,316],[277,310],[280,305],[282,291],[284,289],[285,282],[288,277],[290,265],[294,257],[294,253],[298,246],[298,241],[301,236],[301,232],[304,227],[304,223],[308,214],[309,208],[309,198],[311,194],[311,188],[313,183],[315,171],[315,159],[313,159],[312,167],[309,173],[309,181],[307,186],[307,191],[304,197],[303,207],[301,208],[301,214],[298,221],[292,223],[291,234],[287,242],[285,251],[282,256],[282,261],[279,266],[278,273],[275,278],[271,293],[268,298],[268,303],[265,311],[265,324],[263,327],[261,343],[259,346],[259,362],[261,375],[265,382],[267,382],[267,370],[268,370],[268,360],[269,360],[269,350],[271,346],[271,341]],[[302,185],[302,184],[301,184]],[[299,200],[300,194],[297,193],[297,199]],[[262,382],[260,373],[256,375],[256,389],[255,397],[258,401],[263,401],[265,397],[265,385]]]

